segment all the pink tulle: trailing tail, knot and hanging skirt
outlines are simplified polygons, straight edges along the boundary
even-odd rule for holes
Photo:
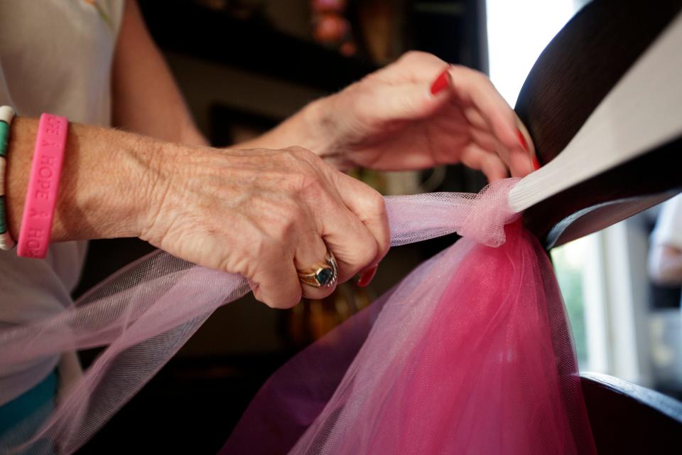
[[[515,183],[386,198],[392,245],[467,238],[278,370],[222,453],[595,453],[551,264],[507,204]],[[15,432],[1,451],[76,451],[247,291],[242,277],[154,252],[70,311],[3,329],[0,371],[107,348],[38,434]]]

